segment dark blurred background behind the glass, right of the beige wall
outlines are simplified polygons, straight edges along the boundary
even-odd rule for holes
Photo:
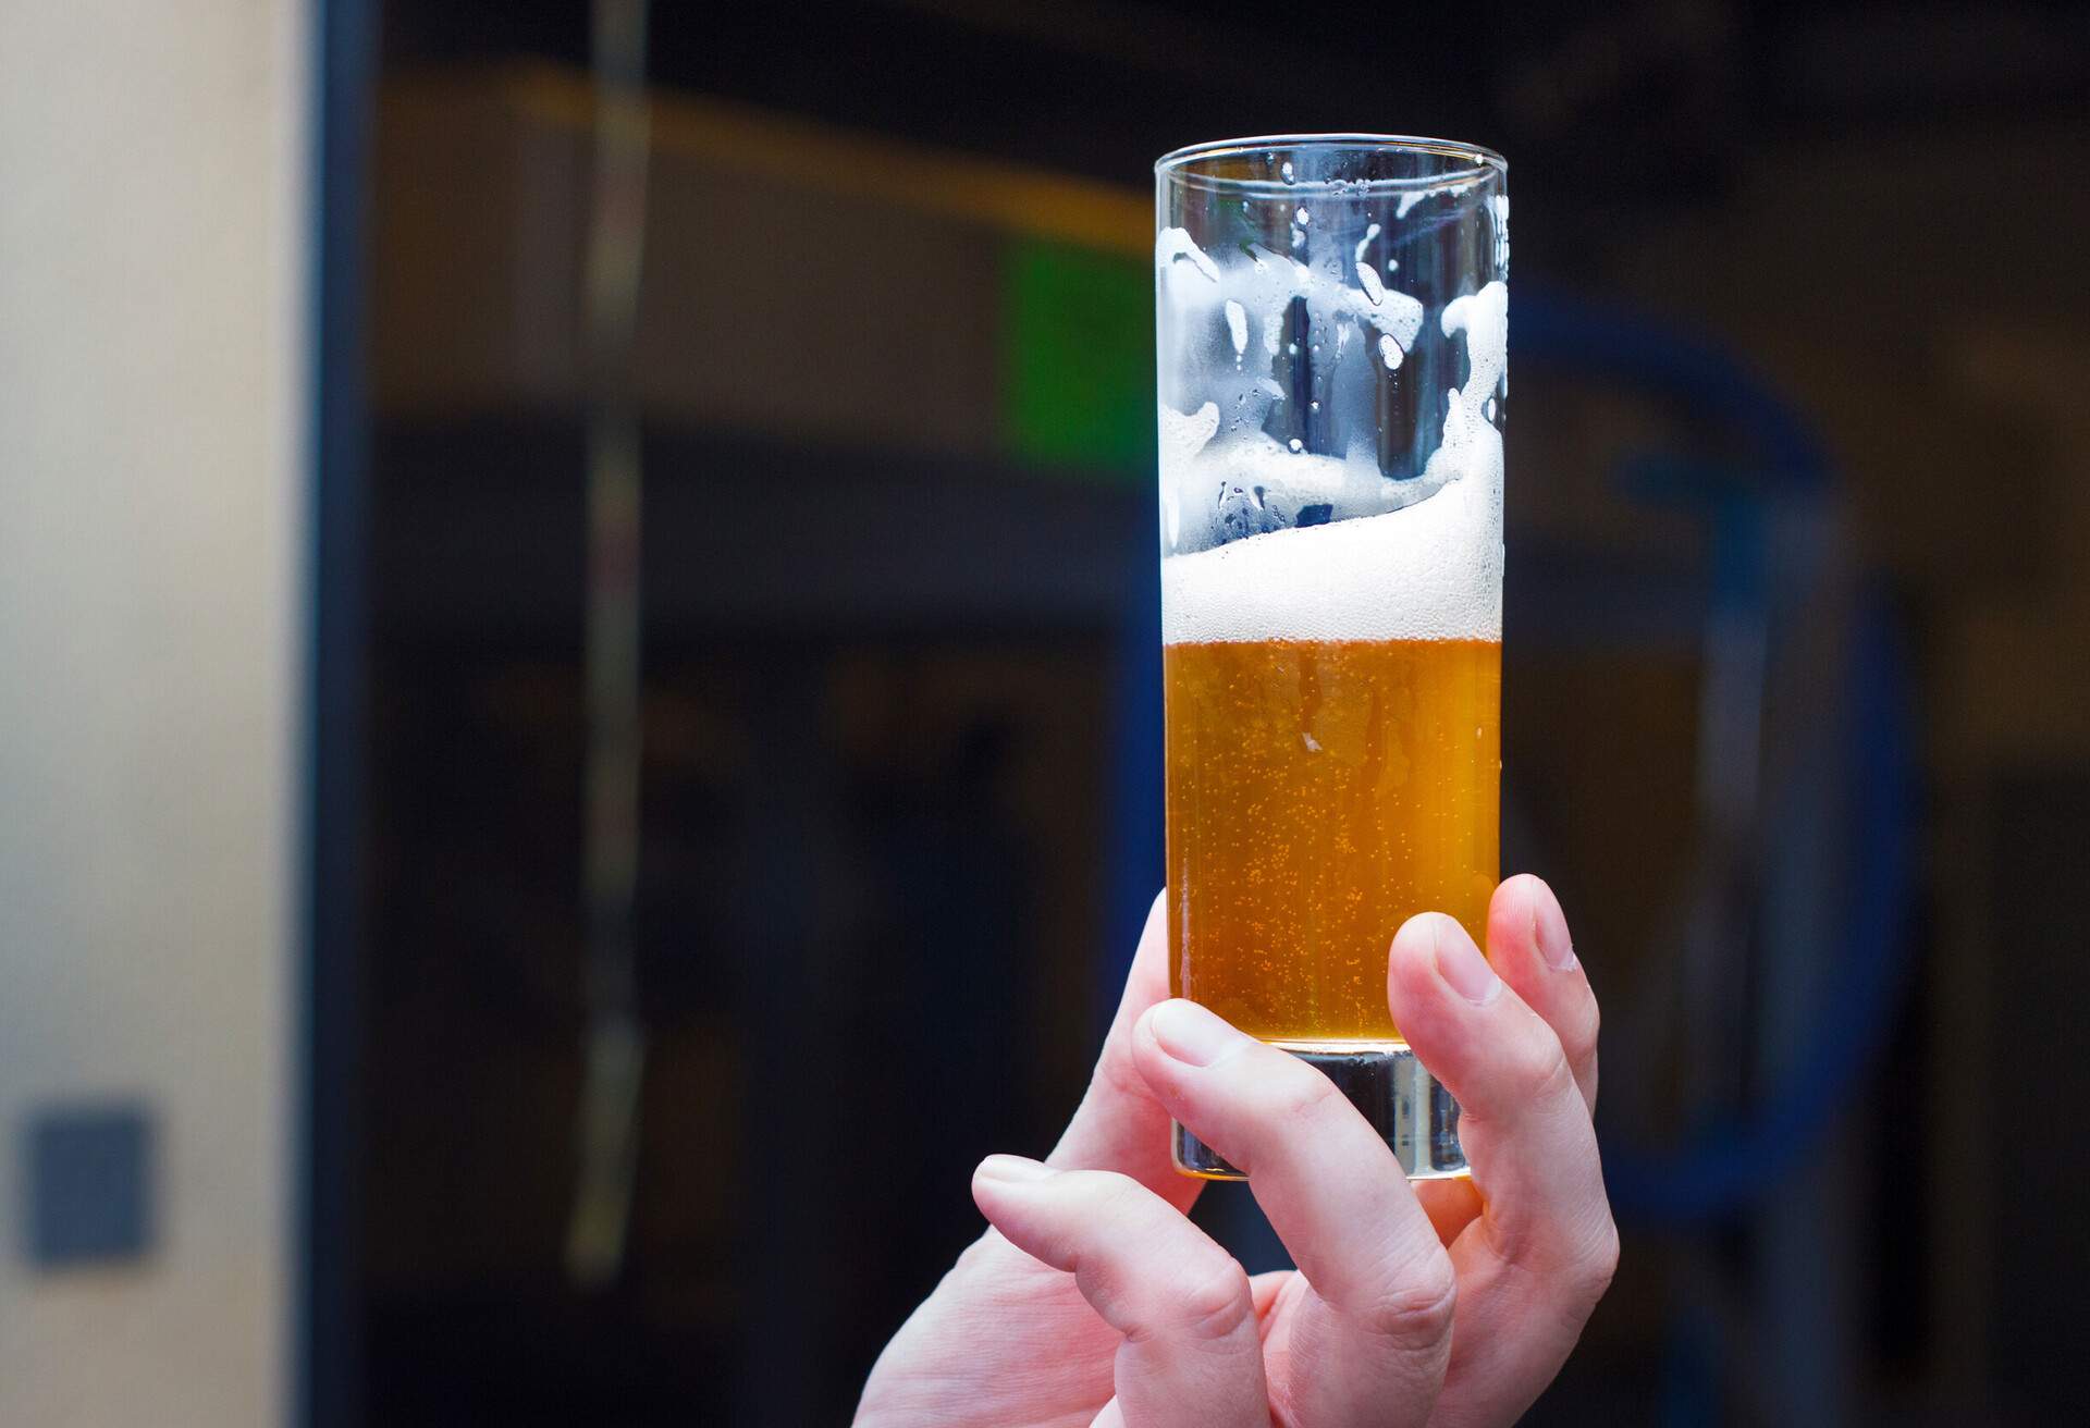
[[[1511,161],[1505,870],[1605,1001],[1624,1227],[1534,1422],[2090,1390],[2082,6],[654,4],[608,368],[589,6],[330,25],[318,1420],[846,1418],[1160,878],[1152,161],[1356,128]],[[589,1277],[619,414],[646,1056]]]

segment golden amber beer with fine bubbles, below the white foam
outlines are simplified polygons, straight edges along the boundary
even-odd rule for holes
[[[1486,947],[1501,642],[1170,644],[1162,669],[1170,993],[1264,1041],[1398,1041],[1400,924],[1448,912]]]

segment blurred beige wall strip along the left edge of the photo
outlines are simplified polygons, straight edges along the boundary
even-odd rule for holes
[[[0,4],[0,1424],[286,1418],[307,8]],[[100,1096],[155,1252],[38,1275]]]

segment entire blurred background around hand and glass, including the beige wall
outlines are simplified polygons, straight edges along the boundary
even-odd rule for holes
[[[0,6],[0,1422],[846,1420],[1158,886],[1150,165],[1283,130],[1511,161],[1624,1227],[1532,1422],[2063,1418],[2086,94],[2013,2]]]

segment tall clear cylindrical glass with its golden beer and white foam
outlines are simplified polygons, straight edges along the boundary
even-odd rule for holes
[[[1250,138],[1156,194],[1170,989],[1463,1175],[1386,953],[1427,909],[1486,945],[1499,872],[1507,165]]]

